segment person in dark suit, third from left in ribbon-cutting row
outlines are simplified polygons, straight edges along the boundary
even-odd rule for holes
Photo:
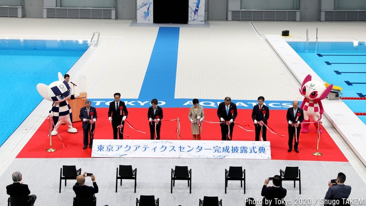
[[[158,100],[151,100],[151,105],[147,111],[147,119],[149,120],[150,139],[154,139],[156,125],[156,139],[160,139],[160,127],[163,119],[163,109],[158,106]]]

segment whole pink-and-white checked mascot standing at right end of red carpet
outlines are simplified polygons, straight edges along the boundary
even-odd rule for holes
[[[304,112],[304,120],[302,122],[302,133],[309,132],[309,119],[312,117],[315,132],[318,133],[318,123],[317,121],[321,120],[322,114],[324,113],[323,105],[321,100],[325,99],[331,89],[333,84],[330,84],[328,87],[325,87],[324,84],[320,81],[312,81],[311,75],[308,74],[302,81],[301,89],[299,89],[300,94],[304,96],[304,100],[300,106]],[[322,129],[320,129],[320,133],[322,133]]]

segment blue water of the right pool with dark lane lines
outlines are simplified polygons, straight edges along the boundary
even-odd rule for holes
[[[287,42],[329,84],[341,86],[343,97],[366,97],[365,42]],[[343,100],[353,112],[366,112],[366,100]],[[358,116],[366,124],[366,116]]]

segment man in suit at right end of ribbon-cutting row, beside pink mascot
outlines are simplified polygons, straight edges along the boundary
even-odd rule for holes
[[[298,101],[293,101],[292,107],[288,108],[286,114],[286,119],[288,122],[288,133],[289,133],[289,141],[288,141],[289,149],[287,150],[287,152],[291,152],[292,150],[292,142],[296,132],[297,140],[295,139],[294,149],[295,152],[298,153],[297,146],[300,137],[300,129],[301,129],[300,123],[303,121],[303,110],[300,107],[298,107],[298,105],[299,105]]]

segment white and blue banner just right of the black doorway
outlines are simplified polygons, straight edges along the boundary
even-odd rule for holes
[[[205,0],[189,0],[189,24],[204,24]]]

